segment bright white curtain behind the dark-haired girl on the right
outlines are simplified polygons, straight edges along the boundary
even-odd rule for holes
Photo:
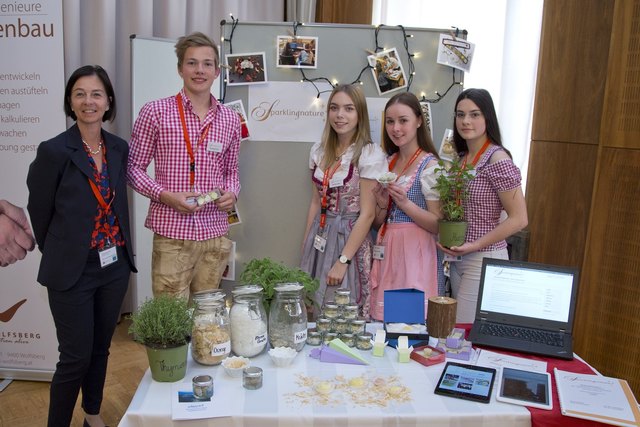
[[[503,143],[522,171],[523,188],[529,162],[542,7],[543,0],[374,0],[373,7],[374,25],[468,31],[467,39],[476,45],[476,51],[470,72],[464,76],[464,86],[491,93]]]

